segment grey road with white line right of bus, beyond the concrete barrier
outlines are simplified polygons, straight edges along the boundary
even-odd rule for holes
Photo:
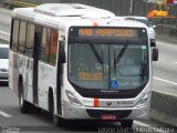
[[[153,90],[177,95],[177,45],[157,42],[159,60],[153,62]]]

